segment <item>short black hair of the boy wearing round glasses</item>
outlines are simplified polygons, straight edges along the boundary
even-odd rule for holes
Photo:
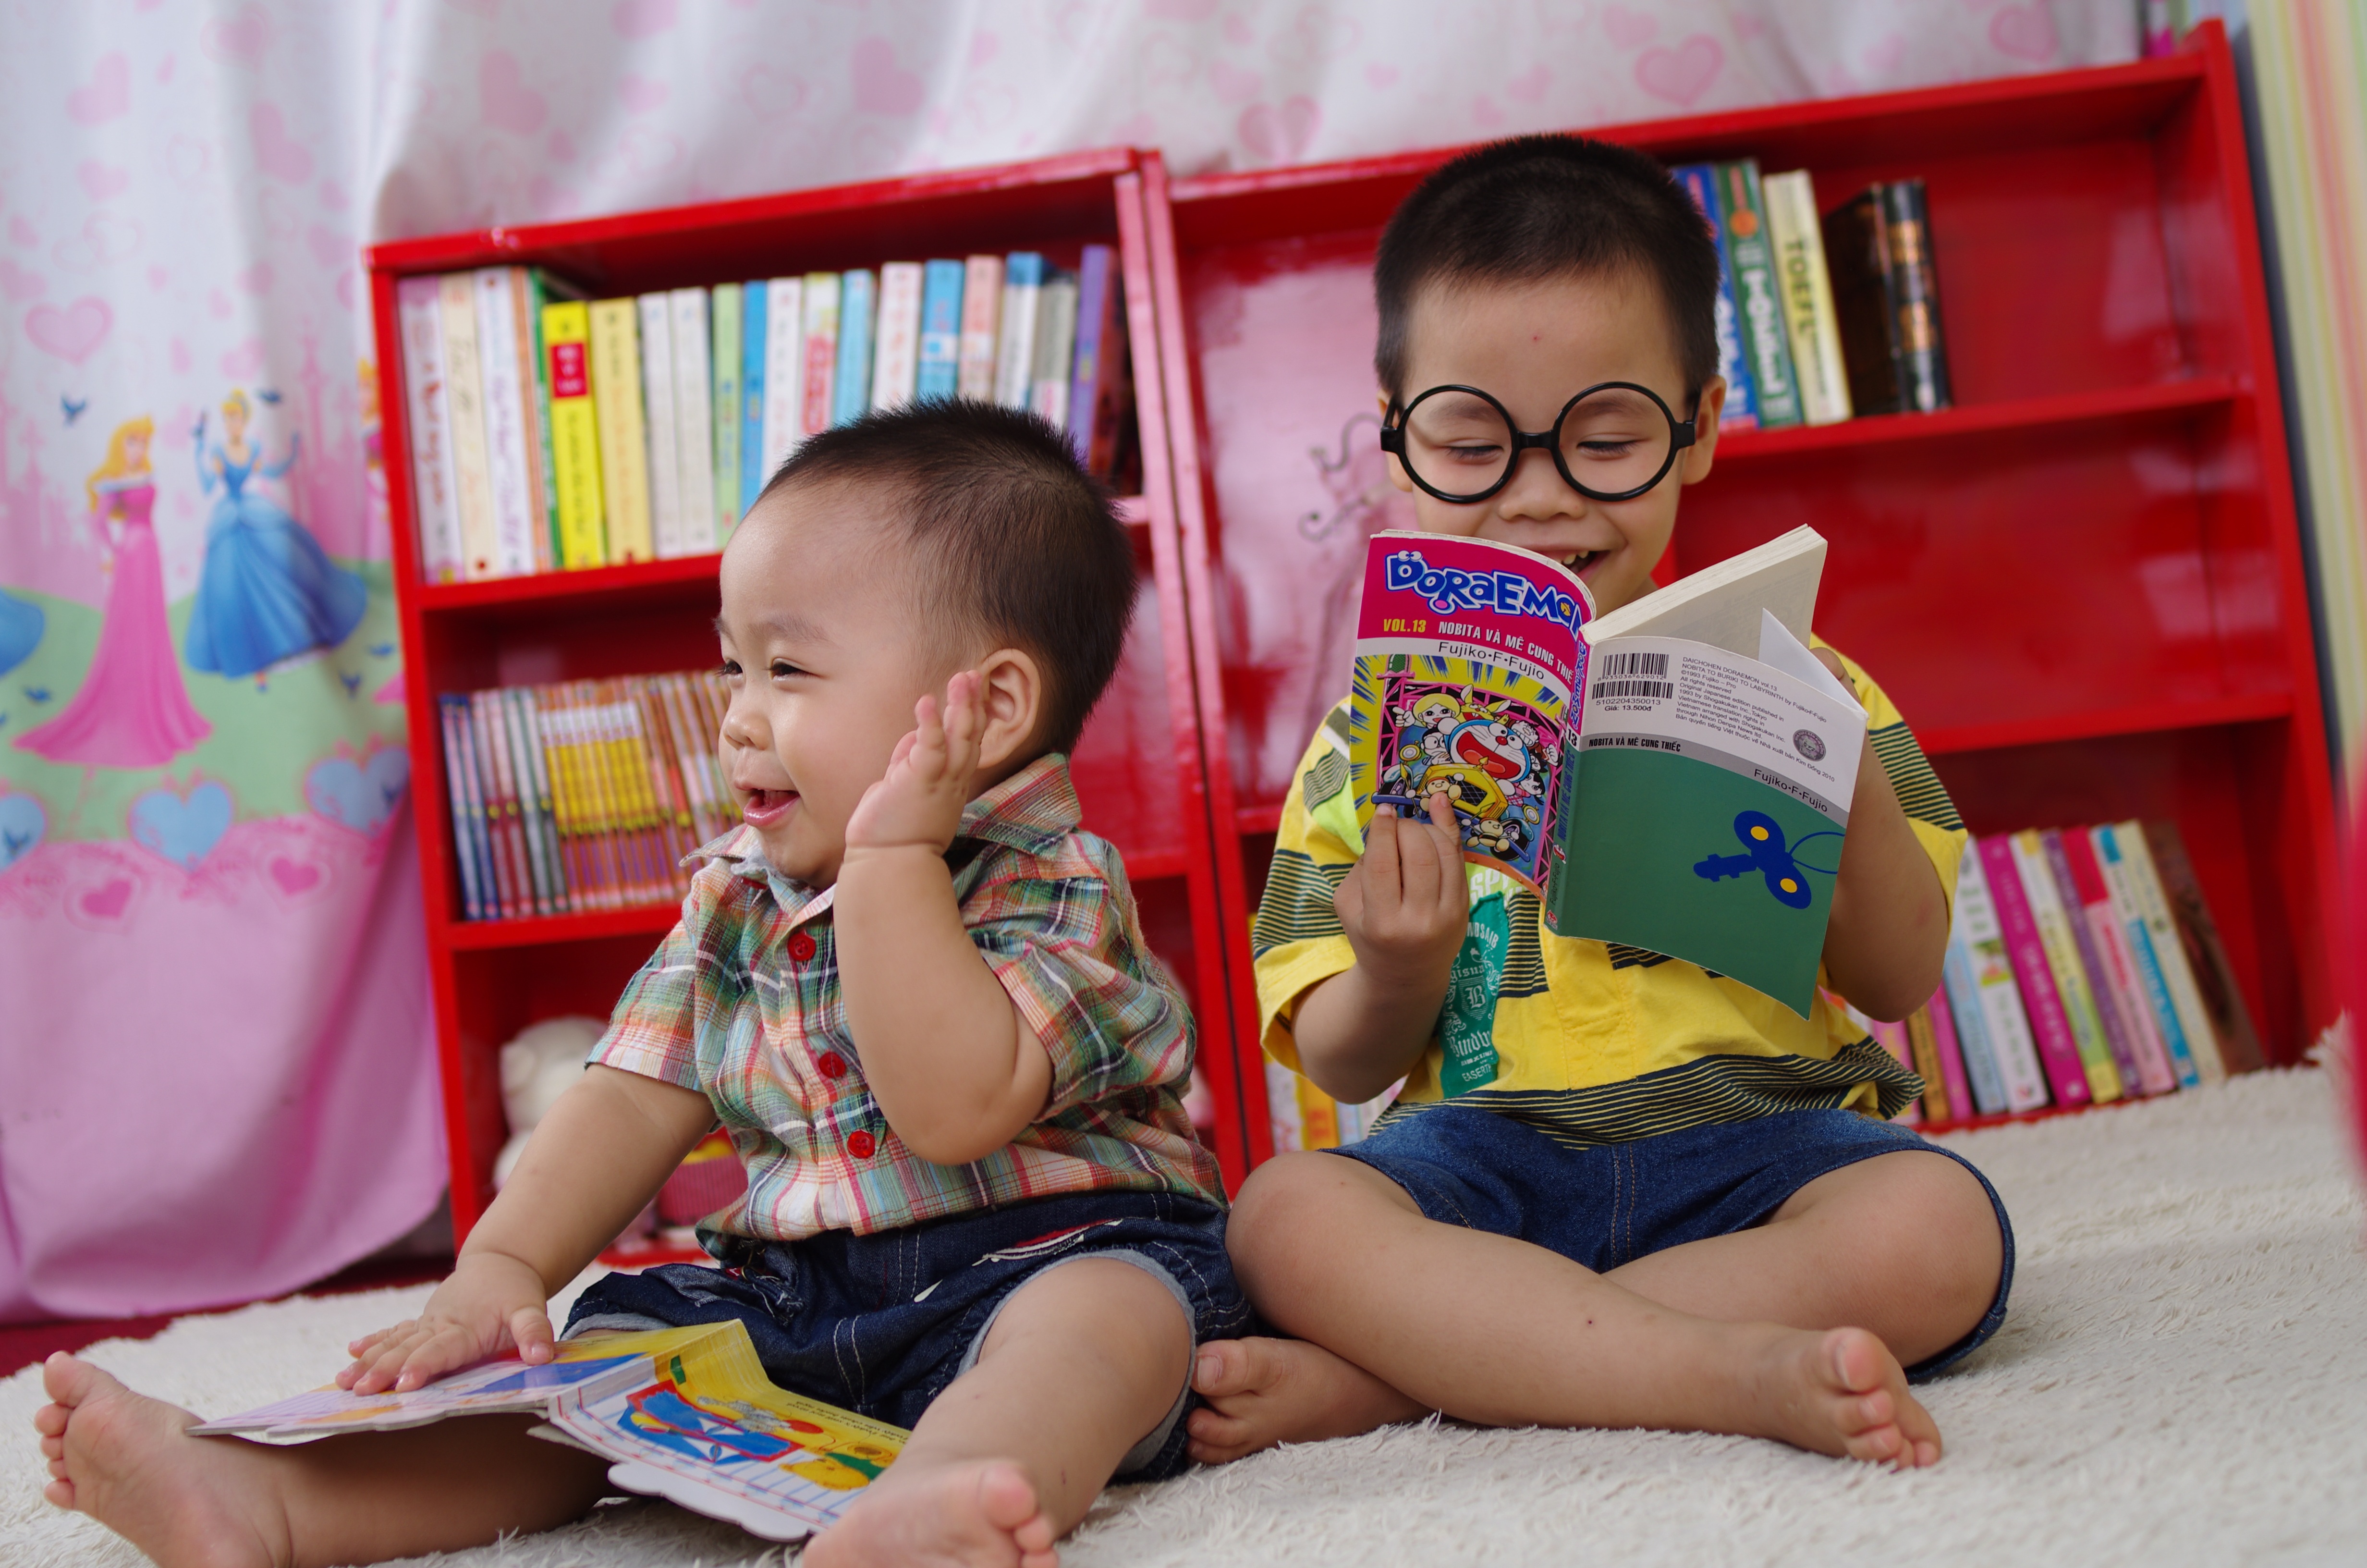
[[[1581,135],[1522,135],[1442,163],[1389,218],[1373,258],[1373,369],[1404,398],[1413,298],[1432,282],[1640,272],[1659,289],[1685,391],[1718,374],[1718,242],[1650,154]],[[1572,388],[1576,391],[1576,388]]]

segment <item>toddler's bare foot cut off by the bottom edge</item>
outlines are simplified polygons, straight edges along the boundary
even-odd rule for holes
[[[800,1568],[1058,1568],[1053,1528],[1027,1471],[1008,1459],[909,1473],[890,1466]]]

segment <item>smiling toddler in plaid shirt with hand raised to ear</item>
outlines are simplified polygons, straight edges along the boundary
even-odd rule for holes
[[[552,1355],[573,1279],[722,1120],[724,1270],[611,1274],[570,1331],[739,1319],[783,1386],[911,1426],[807,1549],[1049,1568],[1112,1473],[1186,1464],[1195,1345],[1247,1326],[1181,1092],[1191,1014],[1065,751],[1134,557],[1032,415],[812,438],[722,559],[722,763],[746,824],[627,985],[419,1319],[338,1383]],[[942,703],[937,694],[942,692]],[[50,1502],[178,1563],[365,1563],[585,1514],[606,1461],[476,1416],[270,1450],[52,1357]]]

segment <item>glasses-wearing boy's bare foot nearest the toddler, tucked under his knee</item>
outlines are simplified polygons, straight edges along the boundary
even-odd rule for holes
[[[1191,1386],[1191,1457],[1224,1464],[1276,1442],[1354,1438],[1430,1409],[1354,1362],[1302,1338],[1219,1338],[1200,1345]]]

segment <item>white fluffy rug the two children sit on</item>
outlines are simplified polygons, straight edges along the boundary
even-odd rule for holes
[[[1948,1440],[1894,1476],[1747,1438],[1415,1426],[1110,1492],[1068,1542],[1115,1563],[2362,1563],[2367,1262],[2327,1078],[1960,1135],[2019,1239],[2012,1317],[1922,1397]],[[320,1381],[417,1291],[187,1319],[90,1350],[227,1414]],[[137,1563],[40,1502],[38,1371],[0,1383],[0,1561]],[[436,1559],[755,1563],[667,1504]]]

